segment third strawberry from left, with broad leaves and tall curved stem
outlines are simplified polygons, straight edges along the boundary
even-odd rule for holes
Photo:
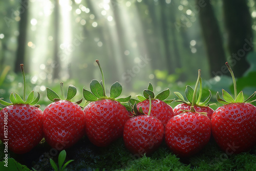
[[[104,75],[101,71],[102,81],[92,80],[90,83],[91,92],[83,89],[83,97],[91,101],[85,108],[86,114],[86,135],[96,146],[108,146],[116,139],[122,137],[123,126],[129,119],[129,113],[120,102],[129,101],[131,96],[117,98],[122,92],[119,82],[112,84],[110,97],[106,96]]]

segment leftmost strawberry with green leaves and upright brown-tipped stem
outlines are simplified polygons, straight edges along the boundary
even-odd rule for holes
[[[43,138],[42,136],[42,111],[37,102],[40,94],[34,98],[34,91],[26,99],[26,77],[24,65],[20,64],[23,73],[24,92],[23,99],[18,94],[11,93],[10,101],[0,99],[6,105],[0,109],[0,139],[8,142],[8,149],[17,154],[24,154],[35,147]]]

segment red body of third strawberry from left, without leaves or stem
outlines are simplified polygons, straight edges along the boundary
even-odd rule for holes
[[[93,101],[83,111],[86,114],[86,135],[94,145],[108,146],[122,137],[129,113],[118,101]]]

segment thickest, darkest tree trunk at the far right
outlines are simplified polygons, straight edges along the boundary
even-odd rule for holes
[[[253,51],[251,15],[247,1],[223,1],[225,27],[228,33],[229,65],[234,75],[241,77],[249,68],[246,55]]]

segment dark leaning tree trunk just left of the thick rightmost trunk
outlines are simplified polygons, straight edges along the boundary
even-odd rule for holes
[[[209,59],[210,76],[221,76],[226,74],[226,72],[222,71],[222,66],[225,66],[226,57],[222,35],[214,14],[214,9],[210,4],[210,0],[205,0],[203,4],[201,0],[197,0],[196,2],[200,9],[199,18]]]

